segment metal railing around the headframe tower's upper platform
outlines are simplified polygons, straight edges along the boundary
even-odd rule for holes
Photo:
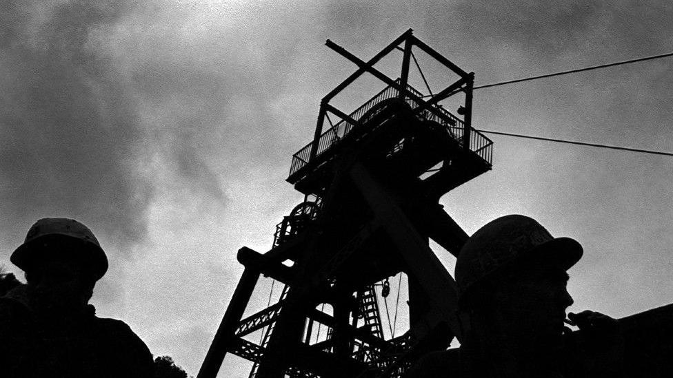
[[[399,79],[397,81],[399,83]],[[412,94],[421,97],[423,96],[421,92],[415,90],[413,87],[410,85],[407,85],[407,90],[411,92]],[[382,101],[387,100],[388,98],[396,98],[399,96],[399,91],[396,90],[396,88],[392,86],[385,87],[381,92],[376,94],[374,97],[370,98],[369,101],[361,105],[361,107],[357,108],[349,114],[350,118],[353,120],[360,120],[365,114],[367,114],[372,108],[374,108],[375,105],[381,103]],[[405,102],[410,105],[412,109],[416,109],[419,107],[419,103],[414,101],[414,99],[406,97]],[[381,107],[379,109],[379,112],[382,111],[384,107]],[[375,116],[377,114],[368,114],[368,116]],[[450,112],[448,112],[446,109],[441,107],[440,105],[432,105],[429,109],[423,109],[421,112],[418,112],[417,116],[421,119],[425,120],[432,120],[436,123],[439,123],[445,129],[449,132],[450,136],[454,138],[457,142],[459,142],[461,145],[463,145],[463,136],[465,134],[465,124],[463,121]],[[333,125],[330,127],[328,130],[323,132],[321,134],[320,138],[318,139],[318,146],[317,146],[317,152],[316,156],[320,156],[321,154],[325,153],[325,151],[328,151],[331,147],[334,145],[337,145],[341,139],[343,139],[346,135],[348,135],[352,129],[356,127],[356,125],[353,125],[350,120],[343,119],[339,121],[336,125]],[[290,176],[293,174],[297,173],[299,169],[302,169],[305,167],[305,165],[308,165],[308,162],[310,160],[310,155],[311,155],[311,150],[313,147],[314,142],[308,143],[308,145],[305,145],[302,149],[297,151],[292,156],[292,164],[290,165]],[[480,132],[477,132],[474,129],[470,129],[470,151],[473,151],[475,154],[479,155],[483,160],[485,160],[488,165],[491,163],[492,159],[492,145],[493,142]]]

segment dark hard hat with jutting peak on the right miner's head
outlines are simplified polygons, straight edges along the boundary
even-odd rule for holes
[[[476,286],[492,277],[536,261],[570,269],[582,257],[581,244],[571,238],[554,238],[536,220],[510,215],[492,220],[472,235],[456,260],[459,298],[465,302]]]

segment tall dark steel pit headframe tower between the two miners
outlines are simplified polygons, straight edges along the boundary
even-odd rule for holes
[[[226,353],[253,361],[250,377],[399,377],[421,354],[461,338],[455,282],[428,243],[458,254],[468,235],[439,198],[491,169],[492,141],[472,128],[474,74],[412,30],[368,62],[327,45],[358,69],[323,98],[312,142],[292,156],[288,182],[305,201],[278,225],[270,251],[239,250],[245,271],[199,378],[215,377]],[[431,96],[408,85],[414,48],[456,81]],[[402,52],[396,79],[374,67],[394,50]],[[330,104],[365,73],[386,87],[350,114]],[[438,104],[459,93],[459,116]],[[410,329],[386,339],[374,285],[400,272]],[[285,285],[280,300],[241,319],[260,274]],[[319,325],[326,337],[312,342]],[[262,328],[259,344],[243,338]]]

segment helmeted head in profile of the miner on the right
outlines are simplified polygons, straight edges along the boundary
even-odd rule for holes
[[[566,271],[582,254],[576,240],[554,238],[519,215],[485,224],[461,249],[455,277],[470,342],[505,376],[503,370],[540,372],[553,364],[544,359],[563,346],[573,303]]]

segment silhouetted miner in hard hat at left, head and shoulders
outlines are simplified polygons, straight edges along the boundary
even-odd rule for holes
[[[152,377],[143,341],[88,304],[108,270],[90,229],[67,218],[38,220],[11,261],[27,284],[0,298],[2,377]]]

